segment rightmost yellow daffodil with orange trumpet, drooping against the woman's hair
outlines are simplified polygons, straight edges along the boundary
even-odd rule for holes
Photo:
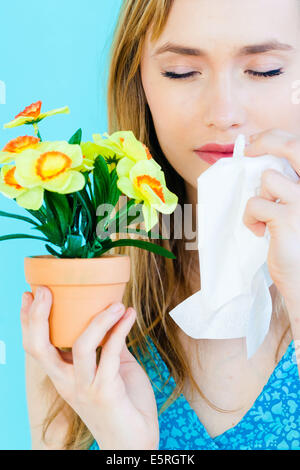
[[[135,199],[136,204],[143,202],[142,212],[148,232],[158,222],[157,211],[171,214],[176,209],[178,197],[167,189],[165,175],[154,159],[141,160],[131,167],[128,162],[123,164],[124,160],[117,165],[117,186],[123,194]]]

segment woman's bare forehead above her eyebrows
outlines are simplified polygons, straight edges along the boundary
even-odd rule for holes
[[[160,37],[145,47],[153,56],[166,43],[206,51],[280,42],[297,48],[299,0],[174,0]],[[167,53],[169,54],[169,53]]]

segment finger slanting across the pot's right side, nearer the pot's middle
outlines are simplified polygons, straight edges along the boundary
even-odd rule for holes
[[[96,349],[124,312],[125,306],[121,302],[112,304],[96,315],[75,341],[72,351],[75,381],[78,386],[82,387],[83,384],[89,386],[93,382],[97,369]]]

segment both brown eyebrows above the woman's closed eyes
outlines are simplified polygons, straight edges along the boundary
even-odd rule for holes
[[[262,44],[251,44],[249,46],[244,46],[238,49],[237,55],[245,56],[251,54],[261,54],[269,51],[294,51],[295,48],[290,44],[284,44],[277,40],[268,41]],[[174,54],[187,55],[187,56],[196,56],[196,57],[205,57],[207,53],[203,49],[191,48],[187,46],[182,46],[180,44],[174,44],[167,42],[160,46],[154,51],[152,57],[156,57],[165,52],[173,52]]]

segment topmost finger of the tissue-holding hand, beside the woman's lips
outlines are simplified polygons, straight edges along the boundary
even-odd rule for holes
[[[269,129],[249,137],[245,147],[246,156],[271,154],[284,157],[300,175],[300,137],[281,129]]]

